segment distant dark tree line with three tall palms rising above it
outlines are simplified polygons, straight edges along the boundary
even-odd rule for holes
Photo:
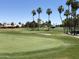
[[[51,24],[51,20],[50,20],[50,15],[52,14],[52,10],[51,10],[51,8],[48,8],[47,10],[46,10],[46,14],[48,15],[48,21],[42,21],[42,19],[41,19],[41,17],[40,17],[40,15],[41,15],[41,13],[42,13],[42,8],[41,7],[38,7],[36,10],[35,9],[33,9],[32,11],[31,11],[31,14],[32,14],[32,16],[33,16],[33,21],[31,21],[31,22],[26,22],[25,24],[22,24],[21,22],[19,22],[18,23],[18,25],[16,25],[15,27],[14,27],[14,22],[12,22],[10,25],[10,28],[12,27],[12,28],[19,28],[19,25],[21,25],[21,27],[22,28],[31,28],[32,30],[34,30],[35,28],[38,28],[38,30],[40,30],[40,28],[44,28],[44,27],[46,27],[46,28],[48,28],[48,31],[50,30],[50,28],[52,28],[52,24]],[[38,14],[38,18],[37,18],[37,22],[35,21],[35,16]],[[6,25],[7,23],[0,23],[0,26],[2,26],[2,28],[5,28],[5,25]]]

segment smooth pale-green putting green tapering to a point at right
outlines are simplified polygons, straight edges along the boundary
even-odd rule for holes
[[[0,53],[38,51],[66,45],[61,40],[32,35],[0,33]]]

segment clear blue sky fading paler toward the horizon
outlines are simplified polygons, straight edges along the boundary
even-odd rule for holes
[[[0,0],[0,22],[1,23],[26,23],[32,21],[32,10],[38,7],[42,8],[41,19],[48,20],[46,9],[51,8],[52,14],[50,20],[52,24],[61,24],[57,8],[63,5],[65,9],[66,0]],[[62,14],[63,19],[65,18]],[[35,16],[35,21],[38,14]]]

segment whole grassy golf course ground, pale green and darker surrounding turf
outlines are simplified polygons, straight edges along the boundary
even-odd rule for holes
[[[0,29],[0,59],[78,59],[79,38],[51,31]]]

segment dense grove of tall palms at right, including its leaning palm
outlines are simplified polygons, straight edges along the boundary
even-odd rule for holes
[[[77,14],[77,10],[79,9],[79,1],[67,0],[66,6],[66,10],[64,10],[63,5],[58,7],[64,32],[76,35],[79,33],[79,14]],[[64,16],[66,17],[64,20],[62,20],[61,17],[62,12],[64,12]]]

